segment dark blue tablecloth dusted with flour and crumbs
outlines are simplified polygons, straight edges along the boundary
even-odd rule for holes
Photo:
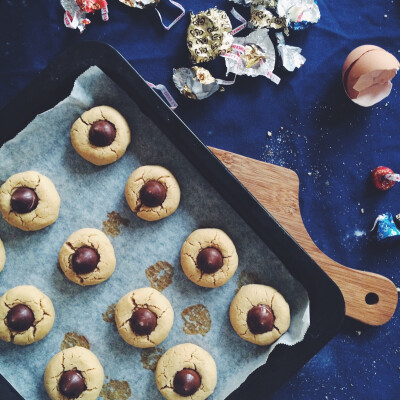
[[[233,5],[227,0],[181,2],[194,12],[214,5],[228,11]],[[321,21],[293,32],[287,41],[303,48],[307,62],[300,70],[279,71],[279,86],[265,78],[238,77],[224,93],[202,102],[183,98],[171,80],[172,68],[189,66],[188,14],[166,32],[154,10],[109,3],[110,21],[95,15],[80,35],[63,26],[57,0],[1,1],[0,106],[66,47],[81,40],[110,43],[146,80],[170,89],[179,103],[178,115],[207,145],[295,170],[304,223],[327,255],[346,266],[383,274],[400,286],[400,245],[378,245],[368,233],[378,214],[400,212],[400,185],[377,193],[368,182],[370,170],[378,165],[400,172],[400,78],[394,79],[390,97],[369,109],[352,104],[341,86],[342,63],[354,47],[372,43],[400,56],[398,1],[321,0]],[[172,18],[177,11],[163,3],[160,9]],[[248,17],[248,10],[236,8]],[[209,68],[224,77],[222,59]],[[399,332],[398,310],[383,327],[347,320],[275,398],[398,399]]]

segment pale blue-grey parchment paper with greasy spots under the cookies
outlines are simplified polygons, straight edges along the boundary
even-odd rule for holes
[[[102,104],[118,109],[126,117],[132,129],[132,143],[121,160],[96,167],[75,152],[69,131],[80,114]],[[178,210],[159,222],[137,218],[124,197],[128,176],[146,164],[170,169],[182,191]],[[54,327],[44,340],[26,347],[0,342],[0,371],[26,400],[48,398],[43,373],[61,345],[90,346],[105,370],[101,393],[104,399],[152,400],[162,399],[151,370],[157,357],[176,344],[195,343],[209,351],[217,363],[218,384],[210,398],[220,400],[264,364],[277,344],[293,345],[304,337],[309,326],[309,299],[302,285],[123,90],[97,67],[76,80],[69,97],[38,115],[0,149],[1,180],[30,169],[54,182],[61,197],[61,210],[55,224],[38,232],[22,232],[0,221],[7,252],[6,266],[0,274],[0,294],[17,285],[31,284],[52,299],[56,310]],[[112,277],[94,287],[70,282],[57,263],[66,238],[85,227],[104,228],[117,257]],[[182,243],[199,227],[223,229],[238,251],[238,271],[229,283],[217,289],[196,286],[185,277],[179,264]],[[158,261],[162,263],[156,264]],[[152,265],[156,266],[148,269]],[[163,293],[174,308],[175,321],[168,338],[156,350],[143,351],[126,344],[115,325],[107,321],[112,321],[112,304],[124,294],[150,286],[147,275],[160,289],[172,281]],[[290,305],[290,329],[270,347],[245,342],[230,325],[229,304],[237,288],[245,283],[273,286]],[[190,335],[185,331],[200,333]]]

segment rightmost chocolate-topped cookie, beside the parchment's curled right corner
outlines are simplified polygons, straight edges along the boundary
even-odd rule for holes
[[[242,339],[267,346],[289,329],[290,310],[283,296],[274,288],[246,285],[232,300],[229,318]]]

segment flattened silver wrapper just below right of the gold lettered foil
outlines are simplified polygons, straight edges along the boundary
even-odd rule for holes
[[[233,44],[245,48],[240,60],[225,58],[227,74],[259,76],[267,75],[275,67],[275,49],[268,35],[268,29],[259,29],[246,37],[235,37]]]

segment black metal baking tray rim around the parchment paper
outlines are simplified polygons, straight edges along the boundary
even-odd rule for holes
[[[82,42],[63,52],[0,111],[0,144],[16,136],[37,114],[67,97],[75,79],[93,65],[124,89],[306,288],[311,325],[304,340],[290,347],[278,346],[268,362],[228,397],[229,400],[267,399],[339,330],[344,319],[343,296],[335,283],[148,87],[121,54],[101,42]],[[6,386],[10,390],[8,382],[0,375],[0,398],[6,393]]]

